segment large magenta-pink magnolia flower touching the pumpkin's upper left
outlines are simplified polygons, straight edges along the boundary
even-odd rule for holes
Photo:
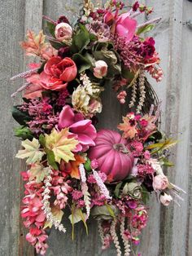
[[[81,114],[75,114],[69,105],[63,107],[59,115],[59,129],[69,127],[72,134],[78,136],[78,151],[86,151],[89,146],[94,146],[97,131],[88,119],[83,120]]]

